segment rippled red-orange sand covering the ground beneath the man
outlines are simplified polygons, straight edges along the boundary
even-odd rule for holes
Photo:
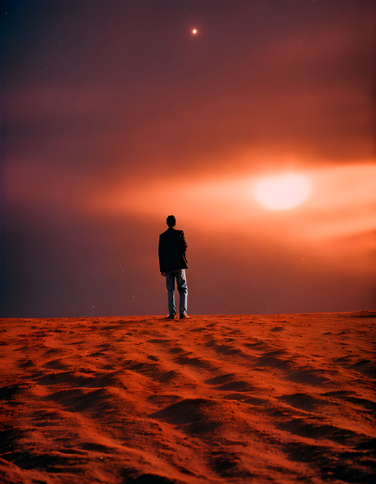
[[[375,316],[2,319],[0,481],[373,483]]]

